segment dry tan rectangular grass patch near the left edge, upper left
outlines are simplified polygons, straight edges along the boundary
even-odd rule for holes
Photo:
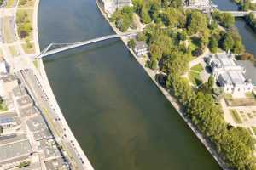
[[[5,42],[15,42],[15,32],[10,24],[10,17],[3,17],[3,39]]]

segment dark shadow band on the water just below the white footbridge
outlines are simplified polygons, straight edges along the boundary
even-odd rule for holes
[[[57,59],[70,59],[73,58],[75,56],[80,56],[80,54],[83,54],[84,57],[86,54],[90,54],[95,52],[97,49],[101,48],[109,48],[110,46],[113,46],[116,43],[119,43],[121,40],[119,38],[116,39],[111,39],[111,40],[106,40],[103,42],[95,42],[95,43],[91,43],[79,48],[73,48],[73,49],[69,49],[67,51],[63,51],[59,54],[51,54],[49,56],[46,56],[43,58],[44,63],[49,63],[49,62],[53,62]]]

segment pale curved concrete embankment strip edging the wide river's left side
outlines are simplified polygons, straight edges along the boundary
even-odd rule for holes
[[[36,50],[36,56],[40,54],[39,42],[38,42],[38,7],[39,7],[40,0],[36,0],[34,6],[34,14],[33,14],[33,38]],[[39,81],[42,83],[46,94],[49,97],[49,102],[55,110],[55,114],[61,119],[61,124],[65,129],[65,133],[70,141],[73,144],[73,150],[79,156],[79,161],[81,161],[81,167],[79,169],[84,170],[93,170],[94,168],[91,166],[89,159],[85,156],[84,151],[82,150],[81,146],[79,145],[77,139],[74,137],[70,127],[67,124],[65,117],[62,114],[61,108],[59,107],[55,95],[49,85],[49,80],[44,70],[44,63],[43,59],[38,59],[38,69],[34,69],[35,74],[39,77]],[[61,137],[60,137],[61,138]]]

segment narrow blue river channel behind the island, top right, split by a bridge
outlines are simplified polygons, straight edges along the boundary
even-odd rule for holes
[[[238,10],[236,3],[234,3],[232,0],[212,0],[212,2],[217,4],[220,10]],[[253,54],[256,58],[256,34],[241,18],[236,18],[236,28],[241,35],[246,51]]]

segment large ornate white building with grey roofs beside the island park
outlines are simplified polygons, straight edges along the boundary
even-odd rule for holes
[[[212,76],[224,88],[224,93],[235,98],[244,97],[253,91],[253,83],[245,77],[246,69],[236,65],[233,54],[216,54],[207,58],[207,64],[212,68]]]

